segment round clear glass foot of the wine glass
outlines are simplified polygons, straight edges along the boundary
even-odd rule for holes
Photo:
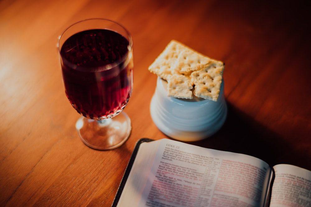
[[[111,119],[92,120],[82,116],[76,128],[83,143],[97,150],[110,150],[121,146],[130,136],[131,120],[125,112]]]

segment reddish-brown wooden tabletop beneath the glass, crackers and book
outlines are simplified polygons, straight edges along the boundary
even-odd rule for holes
[[[0,2],[0,206],[110,206],[138,139],[166,136],[149,106],[148,66],[170,40],[225,62],[228,117],[193,144],[311,170],[308,7],[283,1]],[[78,137],[64,92],[58,35],[76,21],[109,18],[134,40],[132,134],[96,151]],[[310,16],[309,16],[310,17]]]

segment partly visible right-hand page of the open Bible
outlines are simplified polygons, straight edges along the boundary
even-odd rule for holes
[[[275,179],[272,186],[271,207],[310,207],[311,171],[293,165],[273,167]]]

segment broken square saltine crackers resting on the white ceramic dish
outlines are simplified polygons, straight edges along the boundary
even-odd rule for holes
[[[171,40],[149,66],[149,71],[168,82],[168,96],[218,100],[225,65]],[[194,91],[192,92],[194,86]]]

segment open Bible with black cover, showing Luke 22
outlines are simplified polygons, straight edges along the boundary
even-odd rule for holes
[[[310,207],[311,171],[171,139],[141,139],[112,206]]]

